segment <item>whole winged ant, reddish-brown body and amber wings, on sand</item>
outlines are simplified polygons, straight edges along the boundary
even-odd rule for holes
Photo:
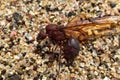
[[[37,39],[48,38],[58,46],[60,53],[68,62],[72,62],[78,55],[79,42],[105,35],[120,33],[120,16],[104,16],[81,20],[79,16],[73,18],[66,26],[49,24],[46,33],[38,35]]]

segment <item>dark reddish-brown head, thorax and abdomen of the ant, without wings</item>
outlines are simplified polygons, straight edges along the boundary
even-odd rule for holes
[[[63,25],[49,24],[46,26],[46,33],[41,30],[37,36],[37,40],[43,40],[48,36],[52,43],[57,44],[56,48],[58,46],[60,48],[58,60],[63,56],[68,64],[71,64],[74,61],[74,58],[78,55],[80,46],[79,41],[76,38],[66,36],[65,31],[62,29],[64,27],[65,26]],[[49,53],[53,54],[52,58],[55,56],[53,51],[54,50],[52,50],[52,52],[49,51]]]

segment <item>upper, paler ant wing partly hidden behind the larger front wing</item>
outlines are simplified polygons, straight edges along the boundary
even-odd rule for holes
[[[82,20],[83,19],[83,20]],[[77,15],[75,16],[68,24],[67,26],[73,27],[73,26],[79,26],[84,24],[90,24],[90,23],[116,23],[120,21],[120,16],[104,16],[100,18],[91,18],[90,15],[85,16],[85,14],[82,14],[82,16]]]

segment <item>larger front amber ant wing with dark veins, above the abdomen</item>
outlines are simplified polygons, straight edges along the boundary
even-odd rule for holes
[[[89,38],[120,33],[119,19],[119,16],[96,18],[90,23],[68,26],[64,30],[67,36],[72,36],[82,41]]]

